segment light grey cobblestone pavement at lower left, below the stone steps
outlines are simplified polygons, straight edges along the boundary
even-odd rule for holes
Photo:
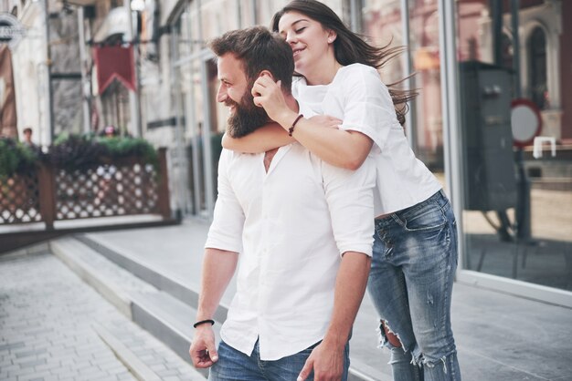
[[[165,381],[205,381],[50,253],[0,258],[0,380],[133,380],[99,324]]]

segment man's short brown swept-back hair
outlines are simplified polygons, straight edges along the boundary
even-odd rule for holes
[[[290,93],[294,58],[291,46],[277,33],[264,26],[231,30],[210,41],[208,47],[217,57],[230,53],[240,60],[250,84],[262,70],[269,70],[275,81],[281,80],[281,88]]]

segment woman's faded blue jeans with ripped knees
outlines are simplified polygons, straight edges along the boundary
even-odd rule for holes
[[[397,335],[391,349],[394,381],[461,380],[450,327],[457,268],[457,226],[440,190],[428,200],[376,219],[368,293],[381,321]]]

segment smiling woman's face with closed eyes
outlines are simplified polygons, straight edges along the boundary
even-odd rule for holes
[[[299,12],[281,16],[278,32],[290,44],[294,65],[298,73],[307,77],[324,59],[334,57],[332,43],[335,32],[326,30],[322,24]],[[335,59],[335,58],[334,58]]]

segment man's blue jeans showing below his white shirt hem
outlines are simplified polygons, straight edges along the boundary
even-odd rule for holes
[[[316,343],[295,355],[282,357],[280,360],[260,360],[259,342],[254,345],[251,355],[245,355],[232,346],[220,341],[218,345],[218,361],[211,366],[209,381],[295,381],[302,371],[308,356],[320,343]],[[347,369],[350,365],[349,344],[345,345],[344,376],[347,380]],[[312,374],[306,378],[313,380]]]

